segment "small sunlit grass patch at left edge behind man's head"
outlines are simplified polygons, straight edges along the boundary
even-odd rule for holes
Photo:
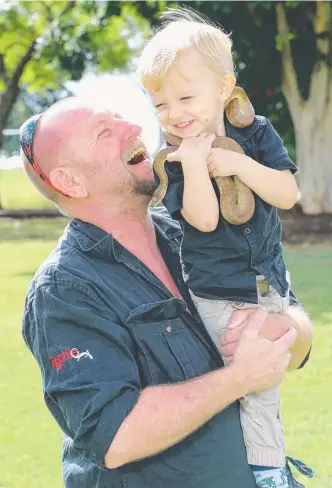
[[[53,203],[35,189],[21,168],[0,170],[0,198],[5,209],[54,208]]]

